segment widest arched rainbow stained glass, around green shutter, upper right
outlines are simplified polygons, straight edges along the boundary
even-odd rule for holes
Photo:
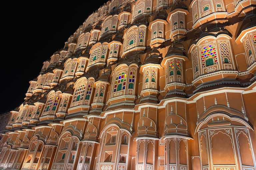
[[[208,58],[212,58],[214,61],[214,64],[218,63],[217,60],[217,52],[216,52],[216,48],[214,45],[206,45],[205,47],[203,47],[201,49],[201,62],[202,62],[202,67],[206,67],[206,59]]]

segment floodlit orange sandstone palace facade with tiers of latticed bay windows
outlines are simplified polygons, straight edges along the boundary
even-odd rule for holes
[[[108,1],[1,115],[0,169],[255,170],[255,8]]]

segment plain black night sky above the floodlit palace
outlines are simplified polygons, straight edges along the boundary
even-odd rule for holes
[[[39,75],[43,62],[63,48],[70,35],[107,1],[0,2],[0,113],[24,102],[29,81]]]

